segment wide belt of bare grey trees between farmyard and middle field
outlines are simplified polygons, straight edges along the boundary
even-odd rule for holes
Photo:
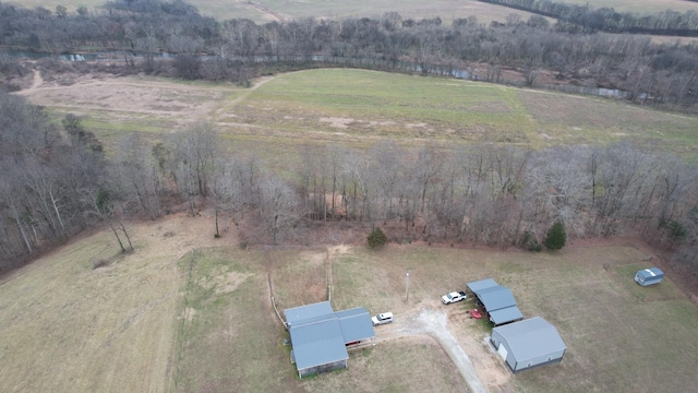
[[[528,247],[563,223],[576,238],[640,234],[696,267],[698,168],[627,143],[303,146],[286,174],[220,145],[213,124],[195,122],[154,142],[125,135],[107,157],[80,118],[58,127],[0,93],[0,265],[105,223],[128,251],[130,219],[184,203],[192,215],[215,210],[212,236],[232,217],[257,243],[306,243],[313,227],[341,223],[381,226],[392,241]]]

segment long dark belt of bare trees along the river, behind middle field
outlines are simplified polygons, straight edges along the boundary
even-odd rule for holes
[[[531,2],[539,3],[549,4]],[[672,22],[673,14],[662,15],[665,23],[679,26]],[[449,74],[458,69],[476,79],[529,86],[538,85],[542,72],[550,71],[556,83],[618,88],[637,103],[678,110],[693,110],[698,103],[695,44],[657,44],[646,36],[570,29],[566,23],[561,19],[551,25],[541,15],[524,21],[512,14],[505,23],[485,25],[473,15],[445,25],[440,17],[405,20],[388,12],[380,17],[257,25],[244,19],[204,17],[181,0],[115,0],[76,12],[0,3],[0,46],[52,53],[116,51],[131,69],[118,72],[242,84],[266,72],[318,67],[313,60],[317,57],[324,60],[322,66],[329,67],[405,71],[401,64],[410,62],[417,64],[413,72],[438,69]],[[163,52],[174,59],[161,60]],[[5,76],[17,70],[2,66],[7,62],[0,59]],[[118,68],[117,62],[110,64]],[[518,71],[524,78],[506,81],[505,70]]]

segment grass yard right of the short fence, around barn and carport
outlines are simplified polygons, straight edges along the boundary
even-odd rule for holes
[[[445,308],[440,295],[492,277],[512,289],[526,318],[540,315],[555,325],[567,352],[561,365],[489,379],[496,376],[482,367],[496,358],[482,343],[489,327],[464,317],[471,303],[450,306],[449,330],[491,391],[691,390],[698,382],[687,372],[698,366],[696,306],[671,279],[642,288],[649,290],[641,291],[640,301],[633,273],[646,266],[638,262],[645,258],[633,247],[575,247],[557,253],[353,248],[333,259],[333,302],[336,308],[363,305],[372,312],[392,309],[399,322],[413,308]]]

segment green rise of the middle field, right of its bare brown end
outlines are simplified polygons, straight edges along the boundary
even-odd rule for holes
[[[269,140],[296,144],[288,138],[357,145],[384,138],[406,144],[504,142],[533,148],[629,140],[690,158],[698,148],[695,116],[613,99],[360,70],[280,75],[242,106],[237,120],[269,130]]]

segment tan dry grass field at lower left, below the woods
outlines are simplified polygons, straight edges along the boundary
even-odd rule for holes
[[[3,392],[168,391],[183,288],[177,260],[214,243],[213,225],[169,216],[130,235],[131,254],[104,229],[1,278]],[[98,261],[108,265],[93,269]]]

